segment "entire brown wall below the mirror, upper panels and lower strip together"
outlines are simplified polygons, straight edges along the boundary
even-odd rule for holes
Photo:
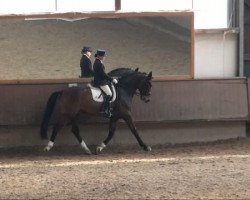
[[[65,81],[65,80],[64,80]],[[49,95],[69,83],[2,83],[0,93],[0,147],[44,144],[39,124]],[[151,145],[213,141],[245,137],[248,119],[248,80],[154,81],[151,102],[135,97],[133,117],[145,142]],[[107,135],[106,120],[82,117],[81,134],[88,144],[98,144]],[[77,144],[70,127],[58,135],[58,145]],[[135,145],[136,140],[119,122],[113,140],[117,145]]]

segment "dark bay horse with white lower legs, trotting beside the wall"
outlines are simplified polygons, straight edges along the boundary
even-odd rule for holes
[[[129,70],[128,70],[129,71]],[[127,71],[127,72],[128,72]],[[118,78],[116,85],[117,98],[111,104],[112,116],[109,118],[109,133],[106,139],[96,147],[96,154],[99,154],[110,142],[114,136],[117,121],[123,119],[132,134],[137,139],[140,147],[145,151],[151,151],[151,147],[146,145],[135,127],[131,116],[132,99],[138,94],[145,103],[150,101],[152,72],[149,74],[130,70],[125,75]],[[56,91],[51,94],[48,99],[46,110],[44,112],[43,121],[40,127],[40,135],[42,139],[47,139],[49,121],[55,107],[57,107],[57,120],[53,124],[50,140],[45,147],[45,151],[49,151],[55,142],[57,133],[65,126],[71,125],[71,131],[77,138],[81,147],[87,154],[91,154],[88,146],[80,135],[79,127],[76,119],[79,114],[100,116],[102,103],[92,99],[91,90],[88,86],[70,87],[62,91]]]

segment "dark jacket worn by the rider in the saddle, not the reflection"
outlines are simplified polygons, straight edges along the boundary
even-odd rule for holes
[[[94,84],[97,86],[109,85],[112,78],[105,72],[105,67],[99,59],[95,59],[94,62]]]

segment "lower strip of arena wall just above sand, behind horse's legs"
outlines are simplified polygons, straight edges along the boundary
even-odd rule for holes
[[[245,137],[244,121],[136,123],[142,140],[150,146],[193,142],[209,142]],[[49,129],[49,135],[51,128]],[[100,144],[108,135],[108,124],[80,125],[80,134],[88,145]],[[43,146],[38,126],[0,126],[0,148]],[[57,136],[56,146],[78,145],[71,127],[65,127]],[[110,142],[111,147],[138,146],[135,137],[124,123],[119,123]],[[80,147],[79,147],[80,148]],[[139,146],[138,146],[139,148]]]

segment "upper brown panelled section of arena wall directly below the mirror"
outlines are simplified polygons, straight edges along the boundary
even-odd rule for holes
[[[64,83],[63,83],[64,81]],[[61,83],[0,84],[0,125],[39,125],[47,99],[54,91],[82,79]],[[132,114],[137,122],[246,120],[246,79],[153,81],[151,102],[135,96]]]

